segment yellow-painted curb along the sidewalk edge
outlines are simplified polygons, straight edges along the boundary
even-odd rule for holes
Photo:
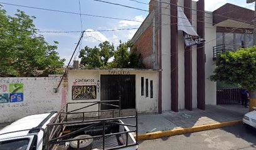
[[[221,122],[221,123],[215,123],[215,124],[206,124],[202,126],[193,126],[190,128],[178,128],[178,129],[171,129],[166,131],[156,131],[154,133],[139,134],[138,141],[146,140],[146,139],[158,139],[158,138],[176,136],[176,135],[186,134],[186,133],[196,133],[196,132],[206,131],[210,129],[218,129],[218,128],[223,128],[227,126],[235,126],[237,124],[242,124],[242,120],[227,121],[227,122]],[[136,138],[136,136],[134,136],[134,138]]]

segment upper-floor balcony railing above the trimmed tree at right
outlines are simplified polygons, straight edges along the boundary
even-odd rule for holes
[[[218,54],[224,53],[226,51],[238,50],[246,46],[230,45],[230,44],[220,44],[213,47],[213,60],[216,60]]]

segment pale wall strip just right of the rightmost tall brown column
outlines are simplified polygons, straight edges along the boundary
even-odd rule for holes
[[[210,81],[209,77],[215,70],[213,61],[213,46],[216,46],[216,27],[212,26],[213,15],[205,13],[205,104],[216,104],[216,83]],[[206,23],[210,22],[210,23]]]

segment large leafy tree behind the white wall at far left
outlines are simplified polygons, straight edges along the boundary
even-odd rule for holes
[[[0,5],[0,74],[4,76],[37,76],[63,72],[65,59],[60,59],[42,35],[37,35],[34,16],[23,11],[8,16]]]

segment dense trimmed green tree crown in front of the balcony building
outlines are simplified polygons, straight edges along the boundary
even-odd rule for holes
[[[244,89],[256,89],[256,46],[220,54],[210,79],[238,84]]]

